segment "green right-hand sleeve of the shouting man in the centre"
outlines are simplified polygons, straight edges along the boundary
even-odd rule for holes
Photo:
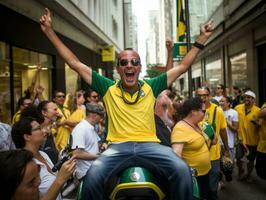
[[[167,88],[166,73],[163,73],[160,76],[145,80],[145,82],[151,86],[154,96],[157,97],[163,90]]]

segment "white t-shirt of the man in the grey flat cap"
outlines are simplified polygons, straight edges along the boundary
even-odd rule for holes
[[[98,134],[87,120],[82,120],[75,126],[72,133],[72,149],[80,148],[92,154],[99,153],[98,142],[100,140]],[[77,160],[75,175],[78,179],[81,179],[86,175],[93,160]]]

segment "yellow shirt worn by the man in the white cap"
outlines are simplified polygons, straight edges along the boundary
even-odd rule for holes
[[[246,112],[245,104],[240,104],[235,107],[238,112],[238,137],[244,144],[257,146],[259,141],[258,127],[252,121],[258,119],[260,108],[253,105],[252,108]]]

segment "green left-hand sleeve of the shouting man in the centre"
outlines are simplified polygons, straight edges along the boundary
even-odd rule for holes
[[[91,88],[102,97],[105,95],[108,88],[113,84],[115,84],[115,81],[112,81],[111,79],[101,76],[95,71],[92,71]]]

